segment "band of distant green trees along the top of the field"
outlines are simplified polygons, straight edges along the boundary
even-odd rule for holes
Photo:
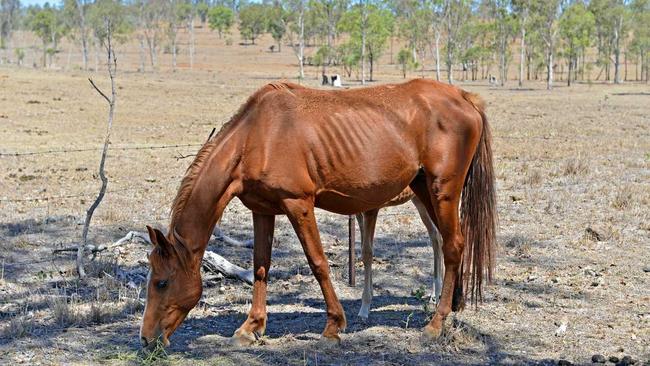
[[[19,0],[0,0],[0,61],[25,57],[24,50],[11,49],[13,32],[23,27],[39,38],[42,65],[53,62],[62,37],[81,50],[84,69],[93,49],[97,65],[94,23],[107,9],[128,29],[122,37],[139,45],[140,71],[158,68],[161,48],[175,70],[184,30],[192,68],[194,23],[200,20],[219,37],[237,23],[250,44],[268,33],[272,51],[285,45],[293,50],[300,78],[305,64],[322,73],[339,66],[364,83],[375,79],[388,49],[387,59],[397,61],[403,76],[418,65],[422,76],[429,72],[450,83],[498,74],[504,85],[513,59],[520,87],[545,78],[551,89],[565,77],[570,85],[590,78],[592,69],[596,80],[615,83],[648,80],[650,74],[650,0],[62,0],[26,9]],[[393,46],[401,54],[396,59]]]

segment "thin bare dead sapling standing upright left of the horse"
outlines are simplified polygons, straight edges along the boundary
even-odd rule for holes
[[[83,233],[81,235],[81,245],[79,245],[77,250],[77,272],[79,273],[79,278],[84,278],[86,276],[86,271],[84,269],[84,257],[86,252],[86,245],[88,244],[88,229],[90,227],[90,221],[93,217],[93,213],[95,212],[95,209],[97,209],[99,204],[102,202],[102,199],[104,198],[104,194],[106,194],[106,187],[108,186],[108,178],[106,178],[106,174],[104,173],[104,165],[106,163],[108,145],[110,144],[110,140],[111,140],[111,129],[113,127],[113,115],[115,113],[115,101],[116,101],[115,72],[117,69],[117,58],[115,57],[115,52],[113,51],[113,45],[112,45],[112,36],[113,36],[112,24],[108,19],[105,19],[105,22],[106,22],[106,51],[108,55],[106,66],[108,68],[108,76],[111,80],[111,97],[109,98],[108,96],[106,96],[106,94],[103,93],[97,87],[97,85],[95,85],[92,79],[89,78],[88,80],[90,81],[90,84],[93,86],[93,88],[95,88],[95,90],[102,97],[104,97],[104,99],[106,99],[106,101],[108,102],[108,128],[106,129],[104,148],[102,149],[102,156],[101,156],[101,160],[99,161],[99,177],[102,181],[102,186],[99,190],[99,194],[97,195],[97,198],[95,199],[95,202],[93,202],[93,204],[86,212],[86,221],[84,222]]]

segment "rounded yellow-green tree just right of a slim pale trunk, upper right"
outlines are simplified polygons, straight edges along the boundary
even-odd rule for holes
[[[573,3],[560,17],[560,38],[564,41],[564,56],[569,72],[567,85],[571,86],[571,71],[576,69],[579,52],[589,47],[595,30],[594,15],[581,2]]]

